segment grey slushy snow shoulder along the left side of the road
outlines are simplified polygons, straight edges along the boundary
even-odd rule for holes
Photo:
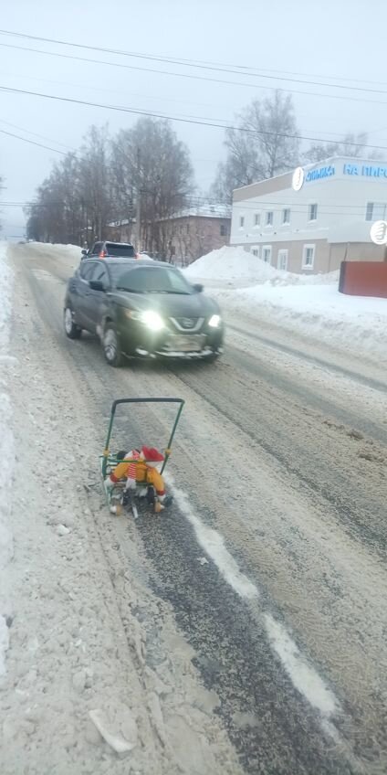
[[[63,281],[43,269],[53,247],[28,246],[37,250],[32,287],[56,294],[60,331]],[[219,700],[148,584],[140,536],[111,520],[97,463],[106,418],[37,313],[23,260],[9,330],[9,254],[0,251],[0,393],[9,378],[12,394],[12,412],[0,395],[1,775],[239,775],[213,715]],[[61,254],[66,268],[78,259],[72,246]]]

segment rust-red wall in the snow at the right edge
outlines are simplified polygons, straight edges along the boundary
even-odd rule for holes
[[[382,296],[387,299],[387,263],[342,261],[339,291],[350,296]]]

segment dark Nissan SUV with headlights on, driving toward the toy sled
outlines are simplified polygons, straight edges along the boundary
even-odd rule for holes
[[[110,366],[124,356],[202,358],[222,352],[219,307],[172,264],[86,259],[68,281],[65,331],[98,334]]]

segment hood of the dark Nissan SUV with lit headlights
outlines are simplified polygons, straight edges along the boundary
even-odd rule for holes
[[[214,299],[204,293],[111,293],[114,303],[135,310],[155,310],[167,317],[206,317],[219,312]]]

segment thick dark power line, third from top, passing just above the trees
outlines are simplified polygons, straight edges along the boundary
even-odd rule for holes
[[[181,123],[192,123],[196,126],[210,126],[217,129],[230,129],[234,130],[235,132],[245,132],[247,134],[256,134],[256,135],[264,135],[266,137],[284,137],[288,140],[308,140],[312,143],[326,143],[326,139],[322,137],[311,137],[309,135],[303,135],[303,134],[288,134],[288,133],[282,133],[282,132],[262,132],[256,129],[249,129],[242,126],[233,126],[231,124],[221,124],[217,123],[215,121],[199,121],[195,119],[190,118],[183,118],[181,116],[171,116],[166,115],[165,113],[158,113],[153,111],[141,111],[138,108],[126,108],[122,105],[105,105],[100,102],[89,102],[87,100],[77,100],[74,97],[59,97],[56,94],[44,94],[40,91],[30,91],[26,89],[14,89],[10,86],[1,86],[0,90],[2,91],[8,91],[15,94],[26,94],[33,97],[42,97],[46,100],[58,100],[61,102],[71,102],[76,105],[87,105],[91,108],[101,108],[103,110],[107,111],[119,111],[123,113],[131,113],[133,115],[139,115],[139,116],[148,116],[149,118],[155,118],[155,119],[168,119],[170,121],[176,121]],[[23,139],[23,138],[22,138]],[[30,141],[32,142],[32,141]],[[354,148],[372,148],[373,150],[377,151],[387,151],[387,146],[385,145],[371,145],[369,143],[350,143],[351,146]],[[54,150],[54,149],[50,149]],[[62,153],[61,151],[58,151],[57,153]]]

